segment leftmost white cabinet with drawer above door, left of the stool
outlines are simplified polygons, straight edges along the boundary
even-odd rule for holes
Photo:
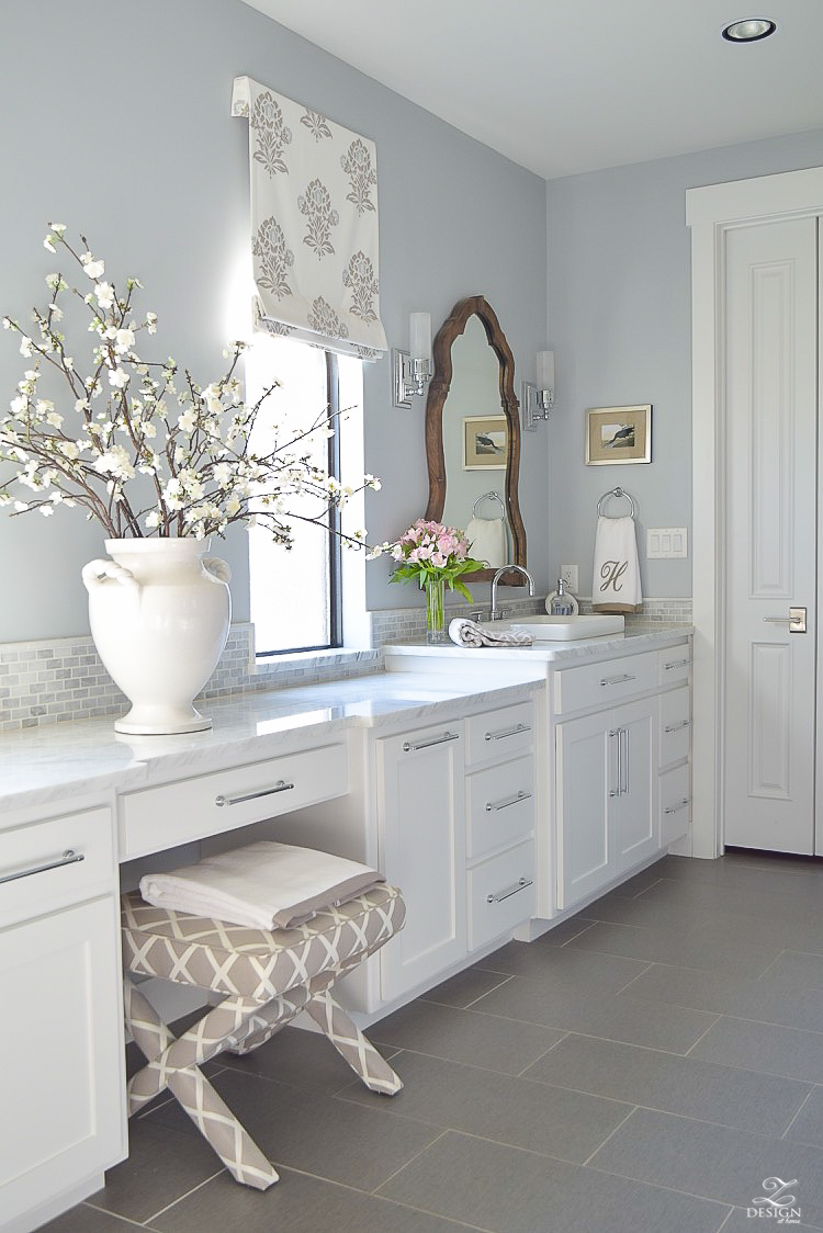
[[[117,858],[106,805],[0,820],[0,1228],[86,1197],[127,1153]]]

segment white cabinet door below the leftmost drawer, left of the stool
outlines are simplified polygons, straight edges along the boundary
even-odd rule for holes
[[[126,1155],[115,898],[1,930],[0,988],[0,1208],[31,1228]]]

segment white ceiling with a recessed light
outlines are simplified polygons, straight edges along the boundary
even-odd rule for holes
[[[547,179],[823,128],[823,0],[246,2]]]

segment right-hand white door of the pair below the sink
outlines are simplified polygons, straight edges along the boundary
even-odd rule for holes
[[[655,803],[656,716],[656,698],[627,703],[611,713],[618,745],[618,795],[613,798],[616,873],[640,864],[660,846]]]

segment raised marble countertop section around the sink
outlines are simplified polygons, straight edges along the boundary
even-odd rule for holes
[[[533,642],[532,646],[455,646],[454,642],[439,642],[431,646],[423,637],[408,639],[405,642],[391,642],[384,647],[391,661],[407,656],[426,656],[427,658],[463,661],[471,665],[473,671],[484,660],[507,662],[512,666],[529,663],[536,674],[545,674],[549,665],[554,667],[568,667],[582,661],[596,661],[613,658],[616,655],[639,655],[640,651],[654,651],[687,637],[692,633],[691,625],[660,625],[634,626],[622,634],[605,634],[600,637],[576,639],[569,642]],[[544,665],[540,670],[539,665]],[[448,670],[447,670],[448,671]]]

